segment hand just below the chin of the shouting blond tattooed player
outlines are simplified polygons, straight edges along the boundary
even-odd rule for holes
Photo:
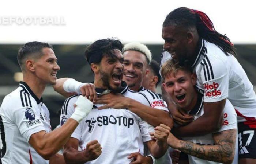
[[[187,125],[194,120],[194,117],[177,108],[170,109],[174,122],[179,125]]]

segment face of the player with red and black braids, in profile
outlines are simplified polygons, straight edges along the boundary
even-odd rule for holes
[[[167,50],[176,62],[188,59],[187,31],[175,26],[162,27],[163,49]]]

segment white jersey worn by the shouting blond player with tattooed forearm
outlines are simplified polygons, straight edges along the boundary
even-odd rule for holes
[[[204,113],[203,109],[203,95],[199,94],[199,97],[197,99],[195,107],[189,112],[189,114],[192,114],[194,116],[194,119],[196,120],[198,117],[202,116]],[[217,132],[222,132],[224,130],[229,129],[237,129],[237,114],[234,110],[233,105],[230,103],[229,100],[226,101],[225,108],[224,108],[224,118],[223,118],[223,124],[221,126],[221,129],[219,129]],[[215,132],[215,133],[217,133]],[[193,142],[195,144],[200,145],[214,145],[214,140],[212,138],[212,134],[207,134],[204,136],[196,136],[196,137],[184,137],[183,140]],[[238,164],[238,139],[236,139],[236,148],[235,148],[235,156],[232,164]],[[188,155],[189,163],[190,164],[220,164],[213,161],[207,161],[203,159],[199,159],[197,157]]]

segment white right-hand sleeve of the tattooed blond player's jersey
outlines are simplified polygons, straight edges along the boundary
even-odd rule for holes
[[[217,132],[229,129],[237,129],[237,114],[231,102],[227,100],[224,108],[223,123],[221,129]]]

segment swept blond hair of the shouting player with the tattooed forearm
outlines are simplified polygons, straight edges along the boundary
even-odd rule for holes
[[[170,74],[175,75],[178,70],[188,71],[190,73],[193,73],[191,66],[189,66],[188,64],[184,64],[183,66],[180,66],[178,62],[175,62],[173,59],[169,59],[163,64],[161,68],[161,76],[163,78],[163,81]]]

